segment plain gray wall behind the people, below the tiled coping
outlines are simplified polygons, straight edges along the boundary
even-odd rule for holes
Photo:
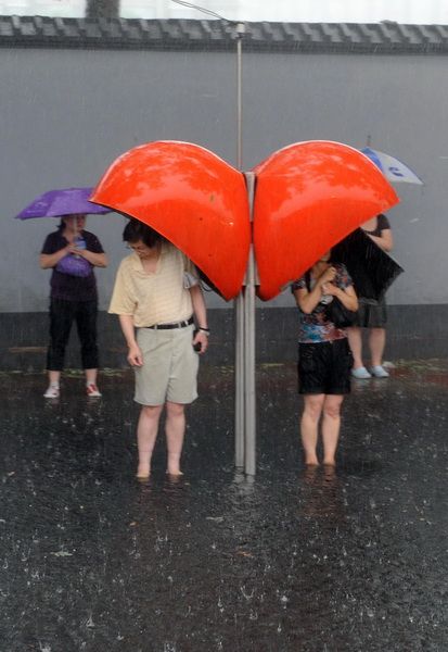
[[[389,217],[395,256],[406,274],[391,289],[388,302],[396,306],[397,324],[401,324],[399,315],[406,315],[402,327],[396,328],[401,334],[408,328],[414,343],[425,338],[424,304],[433,304],[441,353],[448,336],[446,63],[443,55],[243,57],[245,170],[299,140],[330,139],[361,148],[370,135],[372,147],[396,154],[425,179],[424,188],[397,186],[401,203]],[[0,312],[5,313],[0,339],[5,351],[46,343],[44,315],[40,319],[37,313],[47,311],[50,274],[40,271],[37,261],[55,224],[52,220],[20,222],[13,216],[47,189],[94,185],[117,155],[151,140],[196,142],[234,163],[235,57],[3,49],[0,88]],[[116,214],[88,221],[111,259],[107,269],[97,272],[102,310],[126,253],[124,222]],[[213,293],[207,303],[212,309],[231,308]],[[412,305],[420,306],[419,317],[409,321]],[[290,293],[263,304],[274,306],[292,306]],[[279,319],[286,313],[281,314]],[[30,317],[35,326],[29,331]],[[10,319],[17,324],[13,329]],[[261,322],[266,327],[265,317]],[[105,348],[112,351],[116,330],[104,329],[111,330]],[[225,329],[219,338],[226,337]],[[291,337],[293,341],[294,334]],[[261,346],[266,352],[272,350],[269,341],[268,333]],[[394,351],[400,354],[399,348]],[[431,353],[427,347],[425,351]],[[281,347],[276,354],[283,354]],[[16,355],[14,360],[10,365],[16,367]],[[111,353],[104,363],[112,362]]]

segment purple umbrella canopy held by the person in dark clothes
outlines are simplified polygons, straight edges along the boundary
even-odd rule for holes
[[[62,215],[111,213],[111,209],[89,201],[93,188],[62,188],[49,190],[36,198],[16,218],[62,217]]]

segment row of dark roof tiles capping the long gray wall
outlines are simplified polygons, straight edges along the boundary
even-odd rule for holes
[[[246,23],[245,51],[447,53],[447,25]],[[0,16],[0,47],[233,50],[226,21]]]

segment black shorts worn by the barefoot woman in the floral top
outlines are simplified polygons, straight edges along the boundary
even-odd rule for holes
[[[347,338],[298,344],[298,393],[346,394],[350,391],[353,355]]]

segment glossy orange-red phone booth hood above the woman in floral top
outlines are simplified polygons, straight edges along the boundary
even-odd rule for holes
[[[360,224],[399,201],[367,156],[340,142],[291,145],[253,172],[258,296],[265,301]]]

